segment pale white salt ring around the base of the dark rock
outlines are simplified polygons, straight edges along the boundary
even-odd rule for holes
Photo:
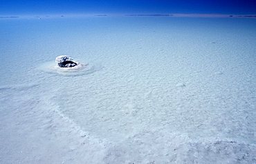
[[[60,74],[62,76],[82,76],[85,74],[92,74],[101,69],[100,65],[89,65],[88,63],[81,63],[75,61],[77,65],[72,68],[60,68],[57,63],[50,61],[39,66],[39,70],[48,72],[50,74]]]

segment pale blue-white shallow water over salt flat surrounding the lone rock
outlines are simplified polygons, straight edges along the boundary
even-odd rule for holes
[[[1,163],[256,162],[254,19],[0,24]]]

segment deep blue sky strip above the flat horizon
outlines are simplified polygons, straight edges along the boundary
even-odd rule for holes
[[[0,0],[0,14],[256,14],[256,0]]]

